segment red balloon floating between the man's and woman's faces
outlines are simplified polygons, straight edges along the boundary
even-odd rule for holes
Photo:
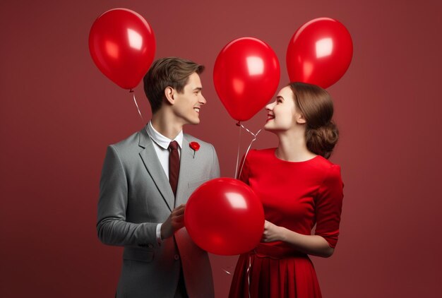
[[[253,117],[275,94],[280,64],[268,44],[253,37],[229,42],[218,54],[213,83],[233,119]]]

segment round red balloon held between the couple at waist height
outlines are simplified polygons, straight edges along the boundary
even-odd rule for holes
[[[258,245],[264,230],[264,210],[247,184],[217,178],[193,191],[186,204],[184,223],[201,249],[231,256]]]

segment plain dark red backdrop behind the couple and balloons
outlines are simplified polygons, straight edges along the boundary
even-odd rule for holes
[[[141,129],[131,95],[95,67],[88,33],[115,7],[141,13],[156,58],[205,64],[208,105],[186,131],[217,148],[232,177],[238,130],[215,94],[220,49],[237,37],[273,47],[288,82],[290,37],[337,18],[354,57],[328,88],[341,138],[345,203],[332,258],[313,258],[324,297],[438,297],[442,292],[440,1],[1,1],[1,297],[114,297],[121,249],[95,231],[107,144]],[[141,85],[136,97],[150,109]],[[265,113],[245,123],[256,131]],[[244,135],[241,152],[250,137]],[[262,133],[255,148],[277,145]],[[217,297],[235,257],[212,256]],[[148,281],[146,281],[148,282]]]

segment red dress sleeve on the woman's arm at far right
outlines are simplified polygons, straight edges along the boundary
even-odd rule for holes
[[[333,165],[319,187],[316,198],[315,234],[323,237],[333,249],[338,243],[343,187],[340,166]]]

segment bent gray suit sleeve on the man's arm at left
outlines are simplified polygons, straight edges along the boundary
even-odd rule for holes
[[[97,233],[104,244],[117,246],[158,246],[157,223],[126,222],[128,184],[117,150],[107,148],[100,179]]]

